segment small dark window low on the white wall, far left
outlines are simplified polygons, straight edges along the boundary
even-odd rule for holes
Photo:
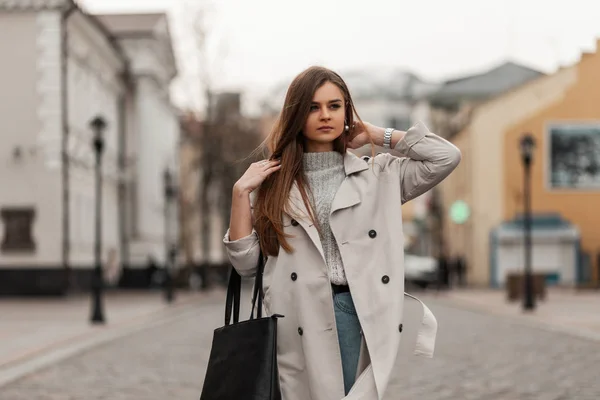
[[[33,208],[3,208],[4,223],[2,251],[35,251],[32,238]]]

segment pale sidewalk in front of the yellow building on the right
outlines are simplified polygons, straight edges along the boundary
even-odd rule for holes
[[[520,301],[508,302],[503,290],[453,289],[430,296],[457,307],[600,341],[600,291],[549,288],[546,300],[536,301],[536,309],[529,313],[523,311]]]

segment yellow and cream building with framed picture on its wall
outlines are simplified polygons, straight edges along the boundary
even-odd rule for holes
[[[533,134],[537,144],[532,211],[555,212],[577,226],[581,248],[592,256],[591,280],[599,280],[598,104],[600,54],[586,53],[576,65],[478,105],[470,122],[452,138],[463,161],[441,185],[444,209],[448,215],[450,205],[463,200],[471,215],[462,225],[446,218],[445,243],[451,255],[465,256],[470,284],[489,285],[490,232],[523,212],[519,140],[525,132]],[[586,146],[578,150],[575,142]],[[574,170],[579,172],[571,174]]]

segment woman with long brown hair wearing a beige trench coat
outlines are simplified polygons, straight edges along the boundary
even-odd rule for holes
[[[400,205],[461,159],[423,124],[402,132],[355,116],[338,74],[305,70],[267,138],[271,156],[233,189],[224,243],[242,276],[255,274],[260,249],[268,257],[265,309],[285,316],[277,337],[284,400],[384,398],[402,332]],[[347,151],[368,143],[401,157]],[[425,307],[418,353],[432,355],[436,327]]]

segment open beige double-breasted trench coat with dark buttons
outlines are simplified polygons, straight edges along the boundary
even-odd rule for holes
[[[396,361],[404,307],[404,238],[400,205],[428,191],[456,168],[460,151],[418,123],[395,150],[401,157],[378,154],[344,157],[346,178],[333,200],[330,225],[363,330],[357,380],[344,396],[340,350],[319,234],[306,217],[300,192],[290,192],[294,217],[284,215],[293,234],[293,254],[281,250],[264,271],[266,312],[278,320],[277,360],[283,400],[371,400],[385,395]],[[372,161],[375,162],[372,165]],[[255,273],[258,236],[224,243],[242,276]],[[433,356],[437,323],[424,306],[416,354]],[[368,352],[367,352],[368,348]]]

